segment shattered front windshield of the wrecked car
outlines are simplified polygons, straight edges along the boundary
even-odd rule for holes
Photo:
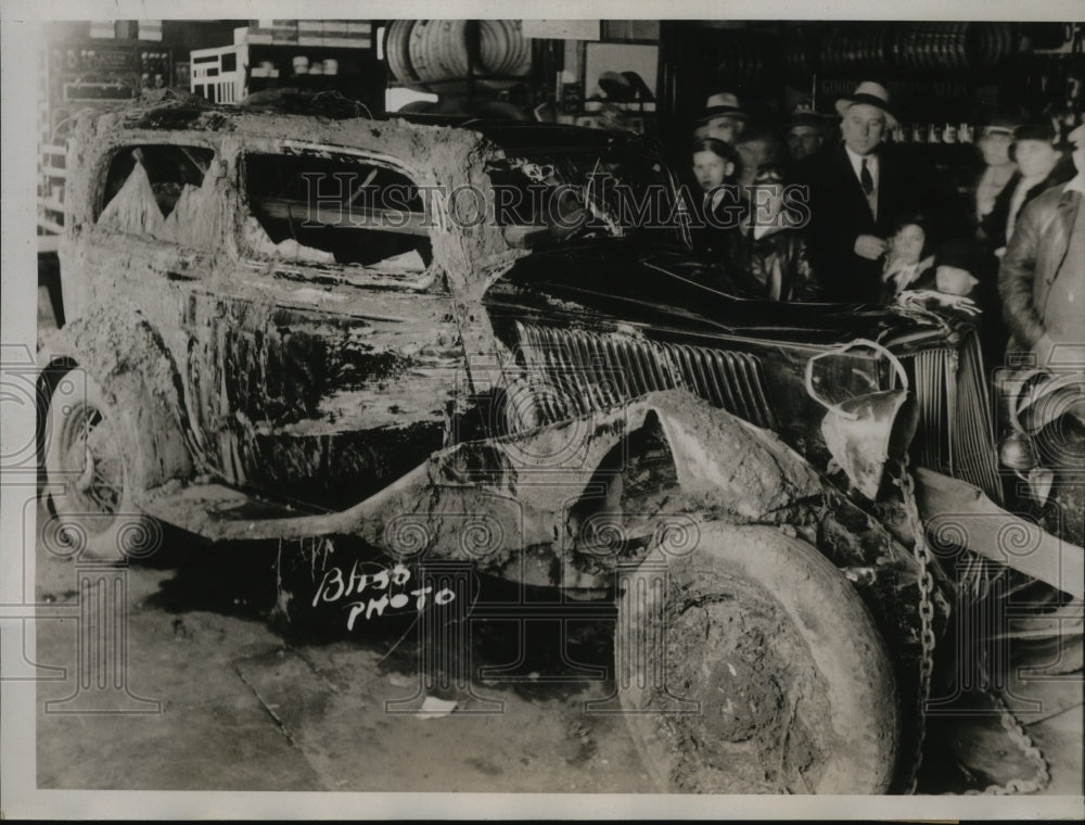
[[[658,157],[634,148],[547,150],[487,167],[495,215],[513,246],[586,238],[680,241],[680,201]]]

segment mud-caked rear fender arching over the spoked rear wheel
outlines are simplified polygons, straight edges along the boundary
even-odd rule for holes
[[[135,500],[142,491],[193,474],[180,373],[165,343],[131,305],[97,307],[51,333],[42,371],[86,370],[113,407]]]

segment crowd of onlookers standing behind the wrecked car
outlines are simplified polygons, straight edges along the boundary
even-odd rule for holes
[[[966,211],[915,153],[886,145],[884,87],[861,82],[835,110],[799,107],[781,134],[732,93],[709,98],[690,150],[698,254],[756,296],[918,295],[978,317],[996,363],[1085,363],[1085,125],[1063,135],[1050,118],[990,116]]]

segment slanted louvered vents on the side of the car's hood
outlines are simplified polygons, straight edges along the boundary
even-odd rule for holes
[[[758,427],[776,426],[761,361],[753,355],[520,321],[516,332],[528,375],[548,384],[535,393],[538,423],[658,390],[686,389]]]

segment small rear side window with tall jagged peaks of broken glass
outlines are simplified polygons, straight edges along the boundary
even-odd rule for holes
[[[224,198],[208,175],[214,163],[206,147],[122,148],[106,174],[99,226],[176,243],[219,242]]]

